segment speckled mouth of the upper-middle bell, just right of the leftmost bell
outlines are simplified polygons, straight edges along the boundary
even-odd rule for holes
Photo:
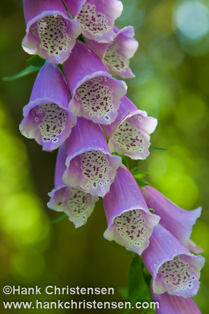
[[[120,103],[114,95],[110,78],[106,76],[96,76],[80,85],[75,100],[86,119],[103,124],[114,121]]]

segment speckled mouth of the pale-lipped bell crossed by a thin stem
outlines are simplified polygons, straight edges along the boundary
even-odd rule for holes
[[[122,122],[110,138],[110,151],[132,159],[145,159],[149,154],[150,136],[142,129],[143,119],[141,114],[135,114]]]

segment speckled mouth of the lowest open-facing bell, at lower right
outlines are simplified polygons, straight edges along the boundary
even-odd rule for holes
[[[199,288],[200,272],[192,256],[178,255],[165,262],[158,270],[156,285],[161,284],[169,294],[192,297]]]

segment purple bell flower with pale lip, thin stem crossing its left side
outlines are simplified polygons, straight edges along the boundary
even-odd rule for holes
[[[108,146],[111,152],[138,160],[149,155],[150,134],[154,132],[156,125],[157,119],[147,116],[146,111],[139,110],[124,96],[115,121],[110,125],[103,125],[102,129],[109,136]]]

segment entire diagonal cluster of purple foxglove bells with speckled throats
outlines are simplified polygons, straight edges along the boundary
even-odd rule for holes
[[[126,83],[110,74],[134,76],[129,67],[138,48],[134,29],[114,26],[121,2],[23,0],[23,6],[23,49],[46,61],[20,131],[44,150],[59,147],[48,207],[80,227],[102,197],[105,239],[141,255],[152,276],[153,299],[161,303],[158,313],[180,307],[183,313],[194,307],[204,264],[190,240],[201,208],[186,211],[151,186],[140,189],[122,164],[121,156],[146,159],[157,120],[139,110],[126,96]]]

